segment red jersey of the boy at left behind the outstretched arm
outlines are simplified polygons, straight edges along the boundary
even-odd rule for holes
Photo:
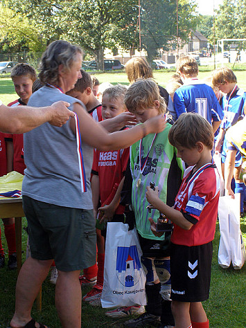
[[[9,107],[16,107],[19,105],[26,105],[21,99],[15,100],[8,104]],[[13,170],[21,174],[24,174],[26,165],[24,163],[23,157],[23,134],[5,134],[6,140],[12,140],[14,147],[14,161],[13,161]]]

